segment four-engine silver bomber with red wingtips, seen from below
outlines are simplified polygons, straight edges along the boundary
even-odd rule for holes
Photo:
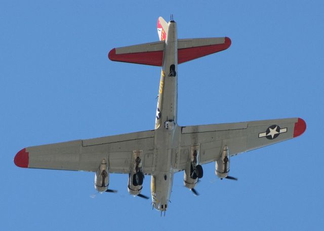
[[[203,177],[201,165],[215,162],[220,179],[228,175],[230,158],[247,151],[301,135],[301,118],[223,124],[179,126],[178,64],[226,50],[228,37],[178,39],[177,23],[157,20],[159,41],[112,49],[112,61],[161,67],[154,130],[27,147],[14,163],[23,168],[95,172],[95,189],[108,189],[109,173],[128,174],[128,192],[141,194],[144,175],[151,176],[152,206],[166,212],[175,172],[184,171],[184,186],[198,195],[195,186]]]

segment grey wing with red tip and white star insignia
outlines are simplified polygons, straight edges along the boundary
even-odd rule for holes
[[[233,156],[289,140],[305,129],[306,123],[301,118],[186,126],[181,132],[181,156],[199,144],[200,164],[205,164],[216,161],[225,145]],[[185,168],[186,163],[182,164],[180,169]]]

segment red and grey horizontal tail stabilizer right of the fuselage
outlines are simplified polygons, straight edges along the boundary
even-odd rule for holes
[[[178,39],[178,64],[224,51],[230,45],[228,37]]]

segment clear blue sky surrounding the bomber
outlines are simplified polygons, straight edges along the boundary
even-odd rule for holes
[[[323,1],[2,1],[0,229],[322,230],[323,12]],[[237,182],[205,165],[199,197],[176,173],[165,218],[128,195],[127,175],[92,199],[94,173],[14,165],[24,147],[153,129],[160,69],[107,54],[158,40],[171,13],[179,38],[232,40],[179,66],[180,125],[301,117],[306,132],[232,158]]]

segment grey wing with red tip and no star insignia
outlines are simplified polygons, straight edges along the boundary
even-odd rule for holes
[[[142,151],[143,172],[151,174],[154,130],[28,147],[14,162],[25,168],[96,171],[105,158],[109,172],[129,173],[134,150]]]

